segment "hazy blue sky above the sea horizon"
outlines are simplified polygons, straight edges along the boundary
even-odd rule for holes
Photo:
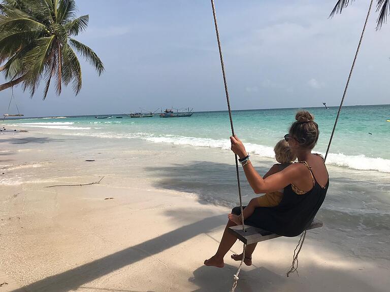
[[[328,19],[335,0],[216,0],[233,109],[338,105],[369,1]],[[77,37],[103,60],[101,77],[82,62],[83,88],[30,99],[14,89],[26,116],[97,115],[139,107],[226,109],[209,0],[78,0],[89,14]],[[92,5],[91,5],[92,4]],[[373,13],[346,105],[389,103],[390,24]],[[3,82],[0,78],[0,82]],[[0,92],[7,112],[10,90]],[[16,108],[11,105],[10,112]]]

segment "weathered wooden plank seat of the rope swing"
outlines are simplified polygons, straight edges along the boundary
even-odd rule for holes
[[[319,220],[316,220],[314,218],[313,222],[310,224],[310,226],[306,230],[319,228],[319,227],[322,227],[322,222]],[[253,227],[253,226],[249,226],[249,225],[245,226],[245,231],[242,230],[242,225],[229,227],[228,231],[232,235],[234,235],[234,237],[241,240],[245,244],[252,244],[252,243],[265,241],[268,239],[273,239],[273,238],[277,238],[277,237],[282,236],[282,235],[272,233],[272,232],[269,232],[267,230]]]

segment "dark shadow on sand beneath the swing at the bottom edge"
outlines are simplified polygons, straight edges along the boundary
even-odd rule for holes
[[[243,268],[239,274],[237,292],[315,291],[319,287],[328,287],[329,290],[337,287],[338,291],[381,291],[361,280],[358,274],[354,276],[337,268],[324,268],[317,265],[308,266],[305,267],[307,277],[303,274],[301,274],[301,277],[295,274],[289,278],[285,275],[274,273],[265,267],[247,269],[246,267]],[[230,291],[233,285],[233,275],[236,272],[236,266],[226,264],[222,269],[206,266],[200,267],[193,272],[193,277],[188,279],[188,281],[199,287],[191,292]]]

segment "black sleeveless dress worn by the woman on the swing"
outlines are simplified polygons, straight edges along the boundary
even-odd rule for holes
[[[309,170],[311,172],[310,167]],[[315,182],[310,191],[298,195],[293,191],[293,186],[288,185],[284,188],[283,198],[279,205],[255,208],[253,214],[246,218],[245,224],[282,236],[300,235],[313,221],[329,187],[329,179],[327,185],[322,188],[313,174],[312,177]],[[233,208],[232,213],[240,215],[240,207]]]

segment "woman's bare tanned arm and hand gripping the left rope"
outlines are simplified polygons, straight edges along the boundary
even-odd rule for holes
[[[240,158],[244,158],[247,155],[247,152],[240,139],[237,136],[232,136],[231,142],[232,151]],[[259,175],[251,163],[246,164],[243,168],[249,185],[253,191],[256,194],[263,194],[283,189],[297,179],[299,175],[302,175],[300,168],[297,166],[298,165],[294,164],[290,165],[282,171],[271,174],[267,178],[263,178]]]

